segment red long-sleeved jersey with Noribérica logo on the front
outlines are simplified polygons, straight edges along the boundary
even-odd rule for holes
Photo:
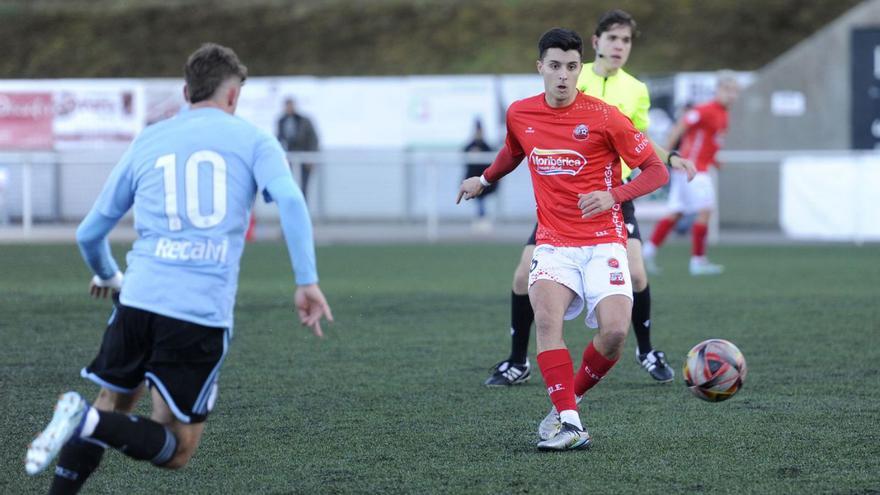
[[[483,175],[495,182],[526,157],[538,210],[536,240],[554,246],[625,245],[620,204],[581,218],[578,194],[620,186],[621,158],[633,167],[649,157],[661,163],[648,137],[616,107],[583,93],[563,108],[548,105],[544,94],[510,105],[504,148]]]

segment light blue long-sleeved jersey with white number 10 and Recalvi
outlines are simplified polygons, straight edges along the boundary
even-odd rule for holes
[[[92,270],[109,278],[116,265],[106,235],[133,207],[138,239],[126,258],[120,302],[229,328],[257,191],[279,201],[296,282],[317,283],[311,223],[284,151],[269,134],[216,108],[146,128],[113,169],[77,240]]]

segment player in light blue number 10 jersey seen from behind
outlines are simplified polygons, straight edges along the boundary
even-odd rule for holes
[[[229,346],[239,259],[257,192],[278,203],[295,268],[294,301],[321,336],[332,321],[318,287],[311,222],[278,141],[235,117],[247,68],[229,48],[206,44],[185,67],[189,109],[145,129],[113,169],[77,230],[94,272],[90,292],[118,292],[98,356],[82,370],[101,386],[93,405],[61,396],[28,447],[29,474],[59,453],[51,493],[75,493],[107,446],[166,468],[198,446]],[[123,279],[107,234],[134,210],[138,239]],[[129,415],[144,382],[150,418]]]

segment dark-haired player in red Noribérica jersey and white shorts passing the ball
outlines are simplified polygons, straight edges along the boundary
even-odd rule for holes
[[[616,107],[577,90],[583,41],[576,32],[547,31],[538,53],[544,93],[510,105],[504,147],[482,176],[462,182],[457,201],[479,196],[527,160],[538,213],[529,298],[538,366],[554,406],[542,425],[555,425],[541,428],[538,449],[571,450],[591,443],[577,398],[614,366],[629,330],[632,283],[620,203],[656,190],[668,172],[648,137]],[[625,185],[621,159],[641,169]],[[575,373],[563,321],[584,307],[587,325],[599,331]]]

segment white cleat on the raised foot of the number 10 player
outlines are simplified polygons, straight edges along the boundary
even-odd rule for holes
[[[52,421],[28,445],[24,469],[29,475],[39,474],[49,466],[61,447],[79,431],[88,410],[89,404],[76,392],[67,392],[58,398]]]

